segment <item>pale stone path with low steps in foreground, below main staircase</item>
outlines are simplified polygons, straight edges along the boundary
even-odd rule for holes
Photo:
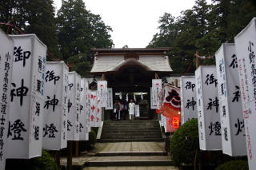
[[[97,151],[73,158],[73,166],[82,170],[176,170],[164,151],[164,142],[98,143]],[[66,159],[61,161],[66,165]]]

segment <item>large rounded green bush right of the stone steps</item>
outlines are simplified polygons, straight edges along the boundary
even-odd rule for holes
[[[194,164],[198,148],[198,120],[192,119],[178,128],[170,139],[170,156],[174,165]]]

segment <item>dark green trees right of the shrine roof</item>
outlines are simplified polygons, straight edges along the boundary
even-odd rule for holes
[[[223,42],[234,42],[237,35],[256,16],[253,0],[197,0],[192,9],[178,18],[164,14],[148,47],[171,47],[173,73],[194,73],[194,53],[213,56]],[[214,57],[203,60],[214,64]]]

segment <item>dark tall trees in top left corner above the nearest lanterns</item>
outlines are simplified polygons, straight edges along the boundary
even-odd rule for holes
[[[12,22],[26,34],[36,34],[52,53],[60,56],[53,0],[0,0],[0,11],[1,22]]]

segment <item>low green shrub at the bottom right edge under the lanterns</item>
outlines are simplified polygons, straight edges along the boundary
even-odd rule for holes
[[[231,160],[219,165],[215,170],[247,170],[248,162],[246,160]]]

